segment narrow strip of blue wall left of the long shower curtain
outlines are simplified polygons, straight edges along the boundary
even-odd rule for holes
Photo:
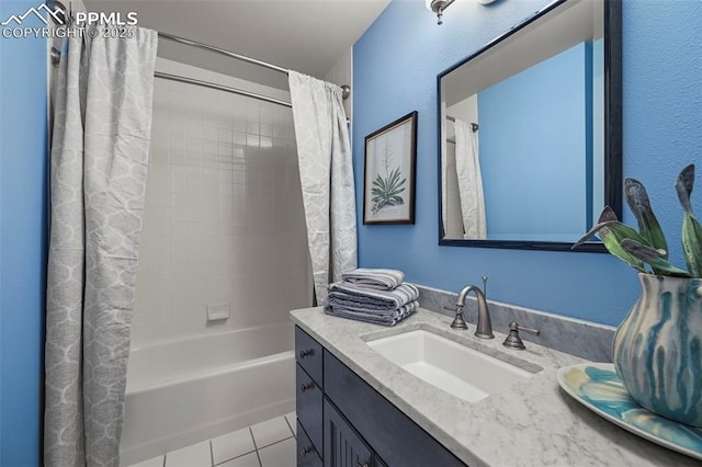
[[[0,21],[36,1],[0,2]],[[42,26],[38,21],[33,26]],[[46,39],[0,38],[0,465],[39,465]]]

